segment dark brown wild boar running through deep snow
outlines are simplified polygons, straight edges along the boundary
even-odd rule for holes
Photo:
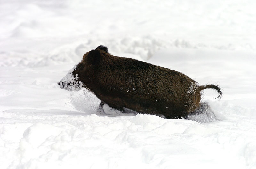
[[[198,109],[204,89],[215,89],[218,98],[222,96],[217,85],[200,86],[178,71],[113,56],[102,45],[84,54],[58,85],[69,91],[87,88],[101,100],[99,111],[106,103],[119,111],[127,108],[168,119],[185,118]]]

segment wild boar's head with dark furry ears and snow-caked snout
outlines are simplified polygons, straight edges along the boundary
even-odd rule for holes
[[[60,88],[68,91],[78,91],[86,87],[90,90],[94,81],[93,70],[100,62],[102,52],[108,53],[108,48],[100,45],[95,50],[84,54],[83,60],[69,70],[68,74],[58,82]]]

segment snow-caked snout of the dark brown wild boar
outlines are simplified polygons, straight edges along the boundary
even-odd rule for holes
[[[75,65],[71,70],[68,71],[68,74],[63,77],[58,85],[61,89],[66,89],[68,91],[78,91],[84,86],[83,83],[79,80],[78,74],[73,74],[76,70],[77,65]]]

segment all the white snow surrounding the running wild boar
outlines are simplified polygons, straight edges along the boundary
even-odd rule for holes
[[[0,168],[256,168],[256,1],[1,1]],[[57,82],[84,53],[180,71],[214,114],[124,114]],[[68,78],[67,78],[68,79]],[[74,80],[74,79],[73,79]],[[211,117],[212,116],[212,117]]]

